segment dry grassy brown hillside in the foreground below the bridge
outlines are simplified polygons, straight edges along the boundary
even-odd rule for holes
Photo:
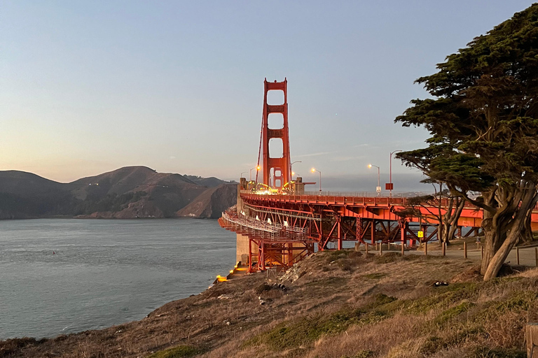
[[[318,252],[279,279],[239,276],[141,321],[0,342],[0,357],[523,358],[537,285],[538,268],[483,282],[464,259]]]

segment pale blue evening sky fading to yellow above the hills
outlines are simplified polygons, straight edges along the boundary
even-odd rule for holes
[[[69,182],[144,165],[237,180],[256,166],[263,79],[286,77],[294,171],[321,170],[324,189],[375,189],[368,163],[387,182],[389,152],[425,146],[425,131],[393,122],[427,96],[413,81],[530,5],[4,0],[0,170]],[[396,191],[421,178],[392,166]]]

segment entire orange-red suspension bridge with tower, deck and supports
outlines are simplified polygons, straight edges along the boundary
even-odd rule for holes
[[[249,272],[286,268],[316,249],[340,250],[346,241],[366,245],[366,250],[368,245],[397,243],[403,250],[439,239],[441,230],[432,223],[432,210],[439,215],[453,210],[448,199],[442,199],[439,206],[415,207],[410,215],[405,197],[305,192],[309,183],[291,178],[287,80],[272,83],[265,79],[263,86],[256,179],[240,178],[237,206],[219,219],[221,227],[237,233],[237,261],[248,266]],[[269,91],[284,92],[284,103],[268,104]],[[270,114],[282,115],[282,127],[269,126]],[[282,157],[270,157],[271,139],[282,141]],[[483,210],[466,203],[456,224],[457,235],[464,231],[464,236],[478,235],[482,220]],[[531,226],[538,229],[538,207],[532,213]]]

